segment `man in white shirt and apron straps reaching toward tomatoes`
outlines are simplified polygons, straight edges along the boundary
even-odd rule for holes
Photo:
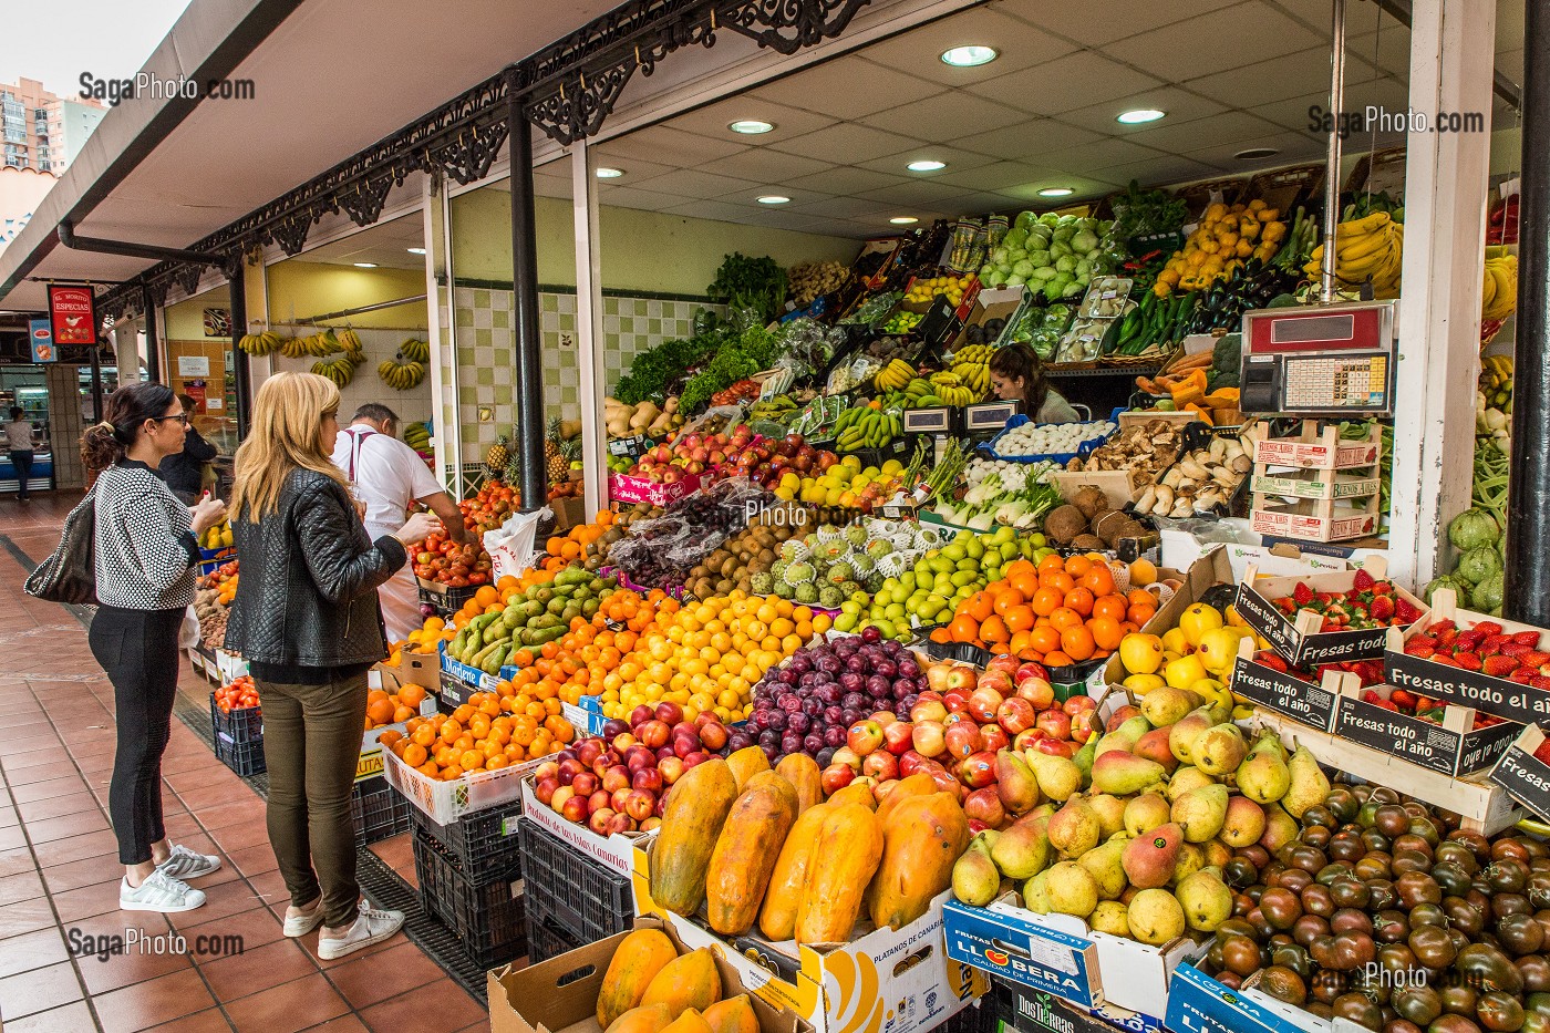
[[[403,527],[414,503],[428,506],[440,516],[454,541],[470,540],[457,503],[446,495],[420,453],[398,440],[398,416],[386,405],[367,403],[355,409],[350,425],[339,431],[333,445],[333,464],[344,470],[356,499],[366,506],[363,521],[372,540]],[[412,568],[412,561],[406,563],[377,589],[388,637],[395,642],[423,624]]]

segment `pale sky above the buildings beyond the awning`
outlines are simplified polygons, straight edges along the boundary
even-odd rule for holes
[[[81,73],[129,79],[140,71],[189,0],[6,0],[0,82],[22,76],[76,96]]]

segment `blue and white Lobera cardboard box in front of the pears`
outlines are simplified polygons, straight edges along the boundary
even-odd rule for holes
[[[953,900],[942,912],[947,957],[1082,1008],[1110,1002],[1142,1014],[1162,1014],[1172,971],[1211,946],[1187,937],[1147,946],[1096,932],[1073,915],[1034,914],[1015,893],[989,907]]]

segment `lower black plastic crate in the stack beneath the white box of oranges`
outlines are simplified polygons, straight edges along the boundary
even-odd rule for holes
[[[414,875],[420,881],[420,903],[453,931],[470,960],[490,968],[527,954],[518,856],[480,867],[473,876],[434,839],[415,831]]]

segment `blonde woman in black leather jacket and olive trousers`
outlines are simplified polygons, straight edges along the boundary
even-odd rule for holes
[[[372,541],[330,454],[339,389],[282,372],[253,402],[237,448],[231,532],[242,580],[226,648],[246,658],[264,706],[268,831],[290,890],[285,935],[322,923],[318,957],[398,932],[403,912],[360,900],[350,786],[366,724],[366,672],[388,655],[377,586],[406,546],[440,527],[417,515]]]

